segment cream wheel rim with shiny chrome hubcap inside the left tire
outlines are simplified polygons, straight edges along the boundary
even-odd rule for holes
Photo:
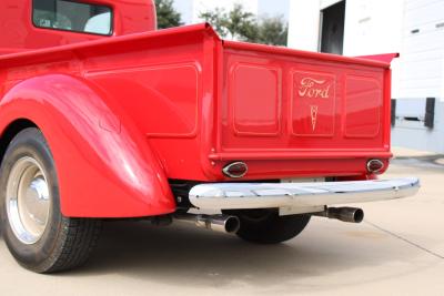
[[[50,207],[51,196],[41,165],[29,156],[18,160],[8,177],[7,212],[20,242],[31,245],[42,237]]]

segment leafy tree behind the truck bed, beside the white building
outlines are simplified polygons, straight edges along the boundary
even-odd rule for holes
[[[222,38],[286,45],[289,30],[282,18],[258,20],[253,13],[244,11],[242,4],[235,4],[230,11],[216,8],[214,11],[201,13],[200,18],[211,23]]]

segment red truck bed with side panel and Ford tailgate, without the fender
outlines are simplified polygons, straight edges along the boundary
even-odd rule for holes
[[[169,178],[224,180],[239,160],[246,180],[356,176],[391,157],[389,63],[222,41],[208,24],[0,60],[3,92],[49,72],[87,79],[147,135]]]

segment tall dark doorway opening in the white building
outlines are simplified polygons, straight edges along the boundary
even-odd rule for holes
[[[344,45],[345,1],[321,11],[321,52],[342,54]]]

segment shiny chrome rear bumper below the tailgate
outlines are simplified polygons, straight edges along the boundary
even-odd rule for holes
[[[407,197],[418,188],[420,180],[416,177],[314,183],[215,183],[192,187],[189,197],[192,205],[203,210],[279,207],[290,208],[293,213],[310,213],[325,205]]]

